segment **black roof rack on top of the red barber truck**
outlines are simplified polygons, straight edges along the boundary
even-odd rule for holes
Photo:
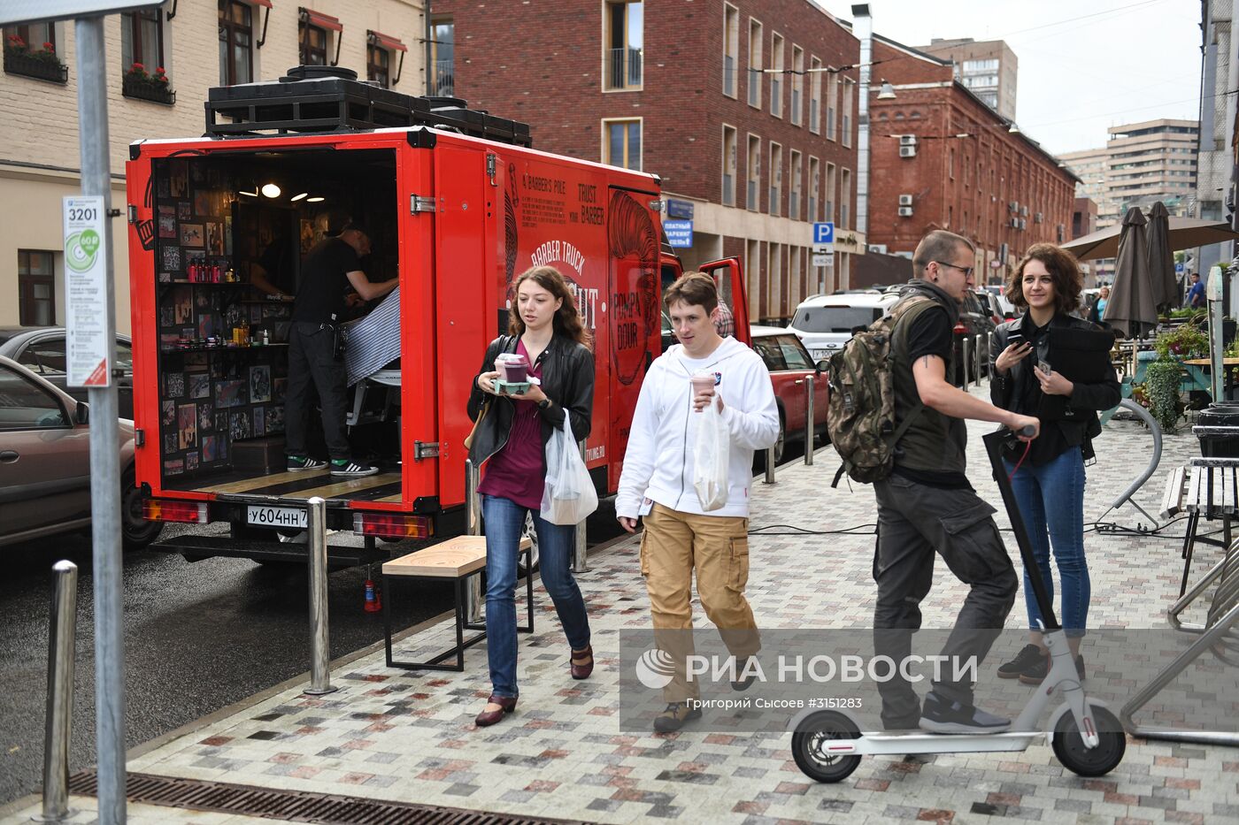
[[[297,66],[279,81],[213,87],[206,110],[212,138],[432,126],[518,146],[533,142],[528,124],[470,109],[460,98],[401,94],[331,66]]]

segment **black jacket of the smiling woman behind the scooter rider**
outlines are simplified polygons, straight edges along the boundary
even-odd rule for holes
[[[994,346],[990,347],[990,375],[992,375],[992,380],[990,382],[990,400],[994,403],[994,406],[1000,406],[1004,410],[1015,410],[1022,415],[1038,415],[1040,410],[1018,409],[1021,400],[1018,394],[1020,388],[1023,386],[1026,370],[1032,369],[1038,359],[1046,358],[1053,363],[1052,359],[1047,358],[1047,353],[1035,352],[1030,354],[1017,362],[1006,375],[999,375],[997,369],[994,367],[997,357],[1011,343],[1011,330],[1020,328],[1023,325],[1025,317],[1027,315],[1005,321],[994,331]],[[1049,321],[1049,326],[1051,328],[1100,330],[1095,323],[1064,312],[1054,315]],[[1025,341],[1028,341],[1027,336]],[[1056,420],[1042,421],[1042,427],[1057,426],[1067,445],[1082,445],[1085,440],[1093,439],[1101,432],[1101,424],[1098,421],[1097,411],[1109,410],[1111,406],[1118,405],[1121,399],[1123,389],[1119,385],[1119,377],[1115,374],[1114,368],[1110,367],[1105,380],[1095,384],[1077,382],[1070,398],[1066,403],[1067,415]]]

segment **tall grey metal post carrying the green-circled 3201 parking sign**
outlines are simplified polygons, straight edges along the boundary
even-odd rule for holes
[[[115,273],[112,261],[112,171],[108,157],[108,62],[104,17],[74,21],[82,193],[103,198],[107,306],[104,339],[116,338]],[[73,331],[69,330],[72,341]],[[110,359],[109,359],[110,365]],[[90,405],[90,534],[94,545],[94,706],[99,762],[99,821],[125,821],[125,638],[120,581],[120,445],[116,384],[87,391]]]

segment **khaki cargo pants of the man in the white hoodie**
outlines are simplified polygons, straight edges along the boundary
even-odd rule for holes
[[[748,583],[748,519],[696,515],[654,504],[641,538],[641,575],[646,577],[654,642],[675,661],[675,676],[663,689],[668,702],[700,699],[688,681],[693,655],[693,571],[706,617],[724,644],[742,660],[761,649],[753,611],[745,598]]]

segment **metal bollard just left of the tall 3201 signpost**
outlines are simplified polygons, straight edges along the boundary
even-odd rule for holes
[[[58,823],[69,808],[69,732],[73,728],[73,666],[77,648],[77,565],[57,561],[52,624],[47,644],[47,720],[43,735],[43,813],[38,821]]]

